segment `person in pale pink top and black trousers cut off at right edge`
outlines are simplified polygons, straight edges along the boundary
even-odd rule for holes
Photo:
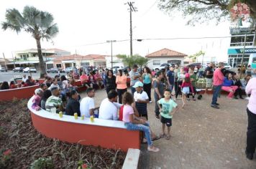
[[[247,95],[250,94],[247,105],[248,127],[245,154],[248,159],[252,160],[256,148],[256,77],[249,80],[245,92]]]

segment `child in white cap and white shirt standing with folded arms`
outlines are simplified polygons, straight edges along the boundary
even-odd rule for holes
[[[135,107],[139,112],[140,117],[145,117],[147,119],[147,103],[150,102],[147,92],[143,91],[143,83],[140,81],[136,82],[133,87],[136,90],[133,95]]]

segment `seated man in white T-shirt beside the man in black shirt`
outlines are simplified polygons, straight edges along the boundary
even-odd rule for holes
[[[98,110],[99,107],[95,107],[93,97],[95,96],[95,91],[93,88],[89,87],[86,90],[87,97],[84,97],[80,102],[80,112],[81,116],[84,115],[84,117],[90,117],[93,115],[94,117],[97,117],[97,115],[94,115],[94,110]]]

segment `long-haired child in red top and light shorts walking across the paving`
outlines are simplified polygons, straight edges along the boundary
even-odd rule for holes
[[[192,83],[191,83],[190,75],[188,73],[186,73],[185,74],[185,79],[183,79],[183,82],[181,84],[182,102],[183,102],[182,107],[184,107],[186,105],[186,95],[189,94],[189,87],[191,88],[192,95],[194,96],[193,86],[192,86]]]

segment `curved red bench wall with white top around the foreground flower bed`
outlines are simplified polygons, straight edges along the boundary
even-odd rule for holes
[[[128,148],[140,149],[140,132],[129,131],[124,127],[124,122],[116,120],[89,118],[75,120],[73,116],[47,112],[45,110],[35,111],[32,109],[32,98],[27,103],[31,112],[32,122],[37,131],[46,137],[57,138],[68,143],[79,143],[82,145],[101,146],[103,148]]]

